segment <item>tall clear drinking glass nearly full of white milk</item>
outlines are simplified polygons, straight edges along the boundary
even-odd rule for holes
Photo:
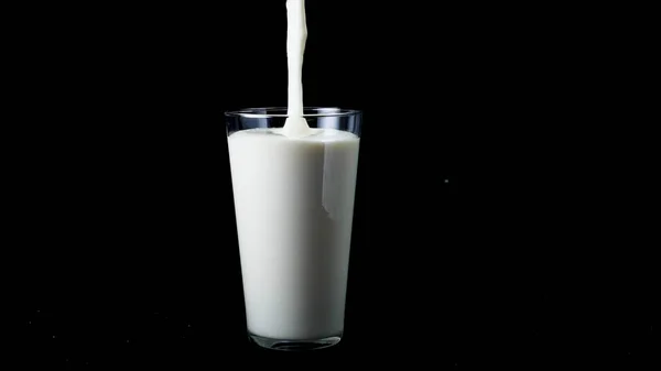
[[[249,338],[282,350],[336,345],[345,298],[362,113],[305,108],[312,134],[282,134],[286,108],[226,112]]]

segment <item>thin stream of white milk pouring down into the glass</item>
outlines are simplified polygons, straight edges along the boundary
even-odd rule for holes
[[[286,62],[288,62],[288,118],[283,133],[292,138],[310,135],[303,118],[303,54],[307,41],[305,1],[286,1]]]

